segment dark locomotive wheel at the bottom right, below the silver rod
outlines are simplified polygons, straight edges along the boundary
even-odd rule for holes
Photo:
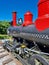
[[[49,65],[49,62],[41,55],[35,54],[31,56],[29,63],[31,65]]]

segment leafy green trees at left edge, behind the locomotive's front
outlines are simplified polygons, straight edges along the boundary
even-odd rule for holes
[[[0,21],[0,34],[7,34],[7,28],[10,26],[9,22]]]

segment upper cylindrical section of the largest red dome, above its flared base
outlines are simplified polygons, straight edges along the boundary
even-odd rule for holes
[[[49,14],[49,0],[39,0],[38,17]]]

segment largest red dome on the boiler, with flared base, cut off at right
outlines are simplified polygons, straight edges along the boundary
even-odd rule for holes
[[[35,24],[38,31],[49,28],[49,0],[39,0],[38,18]]]

